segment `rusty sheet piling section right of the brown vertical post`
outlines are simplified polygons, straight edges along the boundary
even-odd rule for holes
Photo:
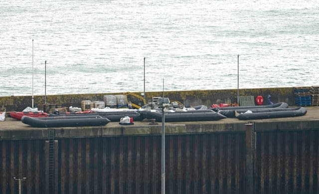
[[[319,194],[319,131],[258,132],[255,193]]]

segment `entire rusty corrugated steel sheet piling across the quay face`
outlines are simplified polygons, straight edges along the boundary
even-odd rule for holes
[[[167,194],[245,193],[245,133],[166,136]],[[160,136],[58,139],[55,193],[160,193]],[[256,132],[256,194],[319,193],[319,131]],[[47,142],[0,141],[0,193],[48,193]],[[247,185],[247,183],[246,183]],[[246,188],[247,189],[247,188]],[[50,193],[50,192],[49,192]]]

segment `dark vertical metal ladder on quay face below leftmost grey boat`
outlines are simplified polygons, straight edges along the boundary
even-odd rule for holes
[[[49,194],[54,194],[54,129],[48,129],[49,141]]]

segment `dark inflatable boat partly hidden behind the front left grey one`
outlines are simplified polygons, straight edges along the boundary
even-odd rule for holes
[[[134,119],[134,121],[142,121],[145,118],[142,118],[141,114],[135,111],[130,112],[98,112],[98,113],[71,113],[71,114],[50,114],[50,117],[65,116],[65,117],[74,117],[74,116],[101,116],[107,118],[112,122],[119,122],[121,118],[129,116]]]

